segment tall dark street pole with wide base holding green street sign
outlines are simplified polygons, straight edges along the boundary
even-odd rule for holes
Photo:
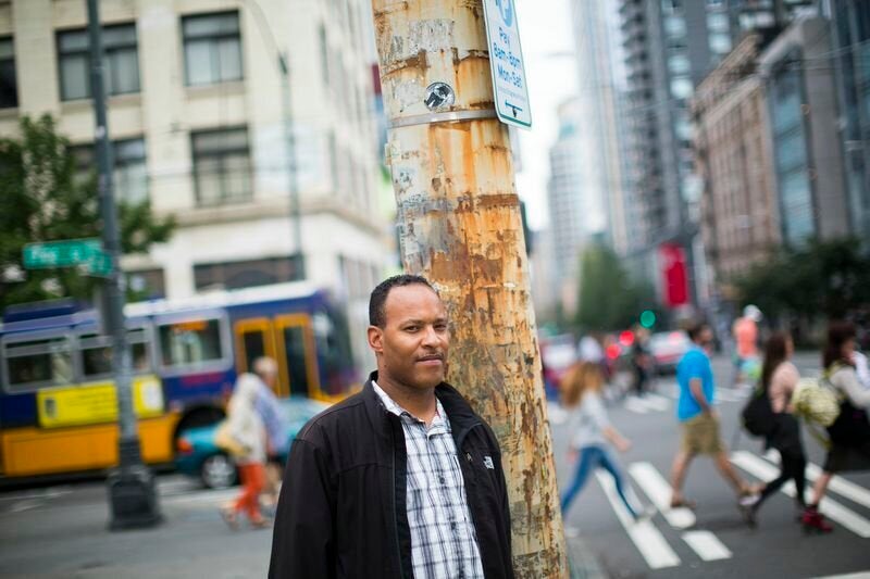
[[[156,525],[160,520],[160,512],[153,477],[142,465],[136,415],[133,410],[132,364],[124,318],[121,236],[112,186],[112,142],[109,139],[105,111],[102,30],[98,0],[88,0],[88,33],[102,242],[103,251],[109,255],[111,263],[111,270],[104,284],[102,314],[104,330],[112,337],[112,374],[117,392],[119,468],[113,470],[107,480],[111,506],[109,527],[115,530]]]

